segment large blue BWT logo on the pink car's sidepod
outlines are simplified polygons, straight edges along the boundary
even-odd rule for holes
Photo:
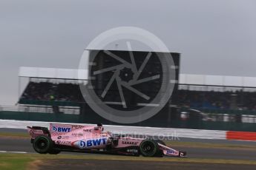
[[[107,138],[99,138],[93,140],[79,140],[73,143],[74,146],[79,148],[89,148],[93,146],[104,146],[107,143]]]

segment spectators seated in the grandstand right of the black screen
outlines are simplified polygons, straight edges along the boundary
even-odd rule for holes
[[[256,92],[179,90],[176,101],[190,108],[256,110]]]

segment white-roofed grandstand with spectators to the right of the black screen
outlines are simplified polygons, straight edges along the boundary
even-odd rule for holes
[[[256,78],[180,75],[180,106],[197,109],[256,111]]]

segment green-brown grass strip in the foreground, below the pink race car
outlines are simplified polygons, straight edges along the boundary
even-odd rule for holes
[[[68,155],[68,154],[0,154],[0,169],[30,169],[35,161],[39,163],[47,162],[54,159],[79,159],[79,160],[122,160],[122,161],[160,161],[176,163],[225,163],[225,164],[243,164],[255,165],[254,160],[223,160],[223,159],[200,159],[200,158],[181,158],[181,157],[129,157],[104,154],[86,154],[86,155]],[[68,161],[66,160],[66,161]],[[34,167],[35,168],[35,167]]]

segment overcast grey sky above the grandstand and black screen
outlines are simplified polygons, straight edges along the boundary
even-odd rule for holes
[[[18,101],[19,67],[77,69],[93,38],[122,26],[180,52],[181,73],[256,77],[255,0],[0,0],[0,105]]]

